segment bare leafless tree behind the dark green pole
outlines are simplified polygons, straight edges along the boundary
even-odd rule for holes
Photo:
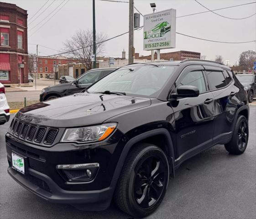
[[[104,33],[96,33],[96,55],[104,52],[104,46],[107,36]],[[91,57],[93,55],[93,31],[91,30],[78,30],[70,40],[63,43],[64,52],[78,59],[84,67],[89,70],[92,68]]]

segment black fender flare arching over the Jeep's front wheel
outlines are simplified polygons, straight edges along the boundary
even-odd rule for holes
[[[160,129],[155,129],[155,130],[150,130],[150,131],[147,131],[147,132],[144,132],[138,136],[135,136],[133,138],[131,138],[125,145],[122,153],[121,153],[121,156],[119,158],[119,161],[117,162],[117,165],[116,165],[116,168],[115,168],[115,172],[114,172],[114,175],[113,175],[113,179],[115,178],[118,178],[120,176],[120,172],[123,168],[123,165],[124,165],[124,162],[125,162],[125,159],[131,149],[131,147],[136,144],[137,142],[139,141],[142,141],[143,139],[146,139],[147,137],[152,137],[152,136],[156,136],[156,135],[164,135],[167,139],[167,147],[168,147],[168,151],[169,151],[169,158],[168,160],[170,160],[170,169],[172,169],[172,176],[174,177],[174,148],[173,148],[173,144],[172,144],[172,138],[170,136],[170,133],[164,129],[164,128],[160,128]],[[168,156],[168,155],[167,155]]]

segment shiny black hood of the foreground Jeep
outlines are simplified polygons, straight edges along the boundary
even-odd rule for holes
[[[115,115],[150,104],[149,98],[78,93],[32,104],[21,109],[16,116],[39,125],[72,127],[100,124]]]

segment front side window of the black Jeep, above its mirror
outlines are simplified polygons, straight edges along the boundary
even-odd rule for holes
[[[206,86],[204,82],[204,75],[202,71],[192,71],[189,72],[179,83],[178,87],[181,85],[191,85],[199,89],[199,92],[205,92]]]

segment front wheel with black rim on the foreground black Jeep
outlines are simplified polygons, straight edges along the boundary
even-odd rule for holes
[[[168,181],[169,165],[164,152],[151,144],[136,145],[126,157],[120,173],[115,203],[133,217],[146,217],[162,202]]]

